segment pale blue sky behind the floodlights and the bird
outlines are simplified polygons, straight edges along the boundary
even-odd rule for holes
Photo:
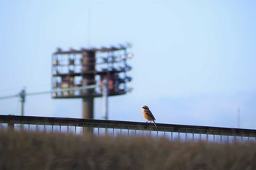
[[[57,47],[130,42],[134,90],[110,98],[110,120],[256,128],[256,2],[0,1],[0,96],[50,90]],[[94,117],[102,119],[102,98]],[[25,114],[81,117],[81,99],[28,96]],[[18,98],[0,114],[19,114]]]

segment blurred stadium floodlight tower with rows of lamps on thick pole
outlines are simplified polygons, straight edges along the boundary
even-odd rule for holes
[[[127,59],[132,58],[132,53],[127,52],[129,47],[128,44],[66,51],[58,48],[52,56],[52,90],[55,91],[52,97],[83,98],[83,118],[93,119],[94,97],[118,96],[129,91],[127,82],[132,80],[127,76],[132,69],[127,64]],[[76,89],[89,85],[96,88]],[[73,90],[64,91],[67,88]]]

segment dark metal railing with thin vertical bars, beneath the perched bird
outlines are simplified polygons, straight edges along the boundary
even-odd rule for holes
[[[198,125],[140,123],[62,117],[0,115],[0,127],[15,131],[43,131],[97,136],[154,136],[170,140],[206,142],[256,142],[256,130]]]

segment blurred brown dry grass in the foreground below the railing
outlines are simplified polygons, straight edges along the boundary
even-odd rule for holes
[[[256,143],[0,131],[0,169],[256,169]]]

